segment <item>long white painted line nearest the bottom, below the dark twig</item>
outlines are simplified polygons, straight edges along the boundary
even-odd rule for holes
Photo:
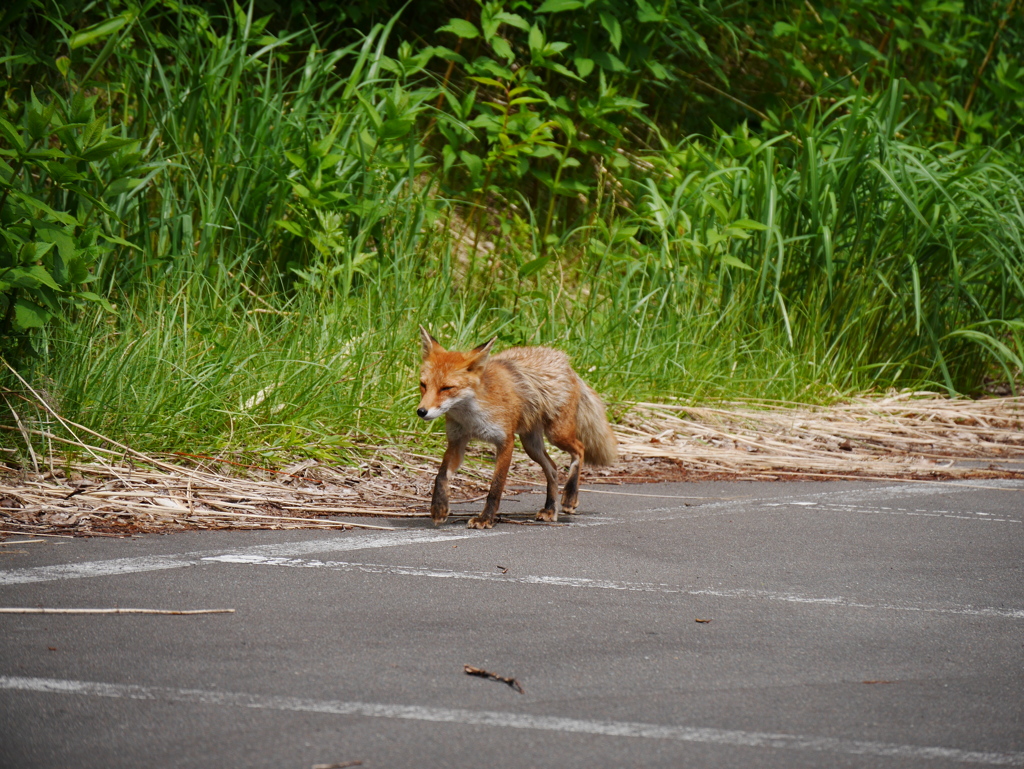
[[[782,751],[810,751],[814,753],[852,756],[950,761],[987,766],[1024,766],[1024,753],[997,753],[992,751],[961,750],[956,747],[905,745],[861,739],[647,724],[634,721],[592,721],[589,719],[534,716],[523,713],[469,711],[337,699],[306,699],[302,697],[247,694],[244,692],[174,689],[159,686],[106,684],[92,681],[67,681],[52,678],[23,678],[17,676],[0,676],[0,689],[50,694],[79,694],[119,699],[188,702],[203,706],[229,706],[267,711],[317,713],[330,716],[361,716],[365,718],[385,718],[403,721],[427,721],[464,726],[530,729],[569,734],[593,734],[603,737],[668,739],[679,742],[697,742],[730,747],[769,747]]]

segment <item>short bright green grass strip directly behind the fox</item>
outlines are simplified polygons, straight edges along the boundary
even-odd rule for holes
[[[585,332],[545,316],[554,287],[512,312],[476,306],[443,273],[411,291],[391,281],[367,286],[358,301],[304,292],[264,303],[218,294],[195,275],[181,283],[126,303],[117,322],[97,312],[54,336],[41,378],[59,393],[62,416],[146,452],[282,461],[418,441],[430,431],[415,416],[420,323],[452,346],[493,333],[503,345],[560,346],[613,408],[667,396],[820,400],[837,391],[827,377],[809,376],[812,365],[780,330],[673,313],[656,336],[616,315],[592,316]],[[724,337],[733,341],[721,344]]]

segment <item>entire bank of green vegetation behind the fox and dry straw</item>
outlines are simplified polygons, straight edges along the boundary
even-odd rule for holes
[[[1016,393],[1024,8],[914,5],[11,3],[0,440],[421,441],[419,324],[620,414]]]

